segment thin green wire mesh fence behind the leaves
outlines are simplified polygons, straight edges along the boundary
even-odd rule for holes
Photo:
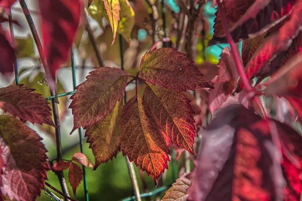
[[[165,30],[166,19],[165,19],[164,1],[162,2],[162,16],[163,16],[163,22],[164,22],[164,33],[165,33],[165,37],[166,37],[166,30]],[[9,13],[9,18],[10,19],[12,18],[12,13],[11,12]],[[11,35],[12,35],[12,37],[14,37],[14,28],[13,28],[13,24],[11,23],[11,20],[10,20],[10,24],[9,25],[10,25]],[[122,44],[122,37],[120,37],[120,44]],[[122,46],[120,47],[120,52],[121,52],[121,54],[120,54],[120,56],[121,56],[121,66],[122,66],[122,69],[123,69],[124,68],[123,67],[123,59],[124,58],[123,58]],[[19,84],[19,72],[18,72],[17,60],[14,63],[14,70],[15,70],[15,81],[16,81],[16,84]],[[57,95],[51,95],[51,96],[45,97],[46,100],[51,100],[51,99],[54,99],[56,97],[62,97],[62,96],[66,96],[66,95],[72,95],[73,93],[75,93],[75,91],[76,91],[75,87],[77,86],[77,79],[76,79],[76,75],[75,75],[75,64],[74,64],[73,50],[71,50],[71,72],[72,72],[72,86],[73,86],[73,90],[69,91],[69,92],[59,93]],[[125,91],[124,95],[126,96],[126,91]],[[82,128],[79,128],[78,132],[79,132],[79,139],[80,139],[80,150],[81,150],[81,153],[84,153]],[[177,179],[177,164],[176,164],[177,162],[175,160],[175,151],[173,149],[172,149],[172,160],[171,160],[171,162],[172,162],[173,180],[176,180]],[[85,166],[84,165],[83,165],[82,169],[83,169],[83,182],[84,182],[85,200],[89,201],[88,186],[87,186],[87,177],[86,177],[86,170],[85,170]],[[159,192],[162,192],[162,191],[168,189],[171,186],[172,186],[172,184],[170,184],[170,185],[164,185],[164,186],[156,188],[153,191],[146,192],[146,193],[141,193],[139,196],[140,197],[152,196],[152,195],[155,195],[155,194],[157,194]],[[51,194],[53,194],[53,193],[48,190],[47,194],[51,196]],[[55,196],[52,196],[52,197],[55,198]],[[133,196],[129,196],[129,197],[126,197],[126,198],[122,199],[122,201],[130,201],[130,200],[135,200],[135,196],[133,195]]]

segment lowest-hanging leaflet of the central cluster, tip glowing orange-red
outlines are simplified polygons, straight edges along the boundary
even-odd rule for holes
[[[169,137],[139,95],[123,107],[121,123],[123,154],[151,175],[157,185],[158,177],[168,168]]]

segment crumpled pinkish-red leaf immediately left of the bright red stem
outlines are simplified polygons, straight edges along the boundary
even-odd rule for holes
[[[220,55],[218,74],[214,89],[209,90],[209,110],[213,114],[237,88],[239,74],[229,47],[225,47]]]

